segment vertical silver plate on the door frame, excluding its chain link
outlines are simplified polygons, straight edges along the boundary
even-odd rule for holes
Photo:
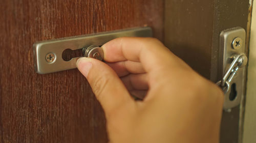
[[[220,67],[219,77],[222,78],[234,60],[234,55],[245,53],[246,32],[241,27],[222,31],[220,34]],[[244,94],[245,68],[239,69],[235,77],[230,81],[230,90],[225,93],[224,109],[230,109],[240,104]]]

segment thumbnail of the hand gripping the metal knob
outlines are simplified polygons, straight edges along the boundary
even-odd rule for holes
[[[76,61],[76,66],[78,68],[78,70],[83,74],[83,76],[87,77],[89,71],[92,68],[92,61],[89,58],[79,58]]]

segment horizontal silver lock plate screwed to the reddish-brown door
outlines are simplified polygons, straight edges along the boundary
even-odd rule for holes
[[[121,31],[98,33],[48,41],[33,44],[35,71],[39,74],[53,73],[76,68],[76,61],[80,57],[64,61],[62,52],[66,49],[82,49],[90,45],[103,45],[118,37],[152,37],[151,27],[139,27]]]

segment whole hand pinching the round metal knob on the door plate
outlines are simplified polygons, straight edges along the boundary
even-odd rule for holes
[[[106,63],[80,58],[77,67],[105,112],[109,142],[219,142],[224,95],[216,84],[154,38],[102,48]]]

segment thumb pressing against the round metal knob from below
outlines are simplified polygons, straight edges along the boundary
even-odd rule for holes
[[[93,58],[80,58],[76,65],[87,78],[106,115],[120,106],[133,104],[134,100],[111,67]]]

